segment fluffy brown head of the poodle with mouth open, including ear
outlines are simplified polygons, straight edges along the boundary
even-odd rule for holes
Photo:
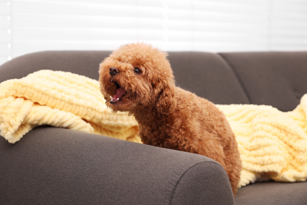
[[[100,90],[114,112],[134,112],[152,105],[158,112],[172,112],[175,82],[167,53],[144,43],[115,50],[99,66]]]

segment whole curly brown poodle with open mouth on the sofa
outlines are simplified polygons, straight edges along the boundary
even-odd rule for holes
[[[99,82],[113,112],[135,116],[143,143],[216,160],[235,194],[241,171],[235,135],[212,102],[175,86],[167,53],[144,43],[121,46],[100,64]]]

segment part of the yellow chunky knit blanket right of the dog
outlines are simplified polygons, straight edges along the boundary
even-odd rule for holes
[[[268,105],[218,105],[236,135],[243,170],[239,187],[273,179],[307,179],[307,94],[290,112]]]

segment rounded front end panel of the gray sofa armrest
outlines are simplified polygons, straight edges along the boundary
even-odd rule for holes
[[[226,181],[229,179],[225,170],[223,167],[216,167],[215,162],[196,164],[181,176],[171,204],[232,204],[232,192],[220,194],[221,190],[231,189],[230,183],[227,184]],[[212,192],[216,194],[212,195]],[[216,200],[217,195],[219,200]]]

